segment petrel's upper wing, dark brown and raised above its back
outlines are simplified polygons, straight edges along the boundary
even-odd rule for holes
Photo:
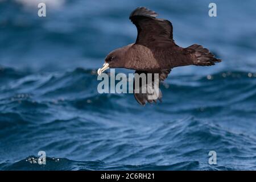
[[[172,23],[166,19],[156,18],[158,14],[145,7],[138,7],[130,14],[130,20],[138,30],[136,44],[143,46],[174,43]]]

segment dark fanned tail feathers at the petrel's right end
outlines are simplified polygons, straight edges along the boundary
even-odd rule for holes
[[[192,46],[187,47],[191,49],[192,55],[194,55],[193,64],[197,66],[211,66],[215,63],[221,62],[221,59],[216,59],[213,53],[209,52],[207,48],[203,46],[193,44]]]

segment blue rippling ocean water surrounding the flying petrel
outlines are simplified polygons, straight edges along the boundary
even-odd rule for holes
[[[255,1],[214,1],[212,18],[203,0],[55,0],[46,18],[35,2],[0,1],[1,170],[256,169]],[[136,39],[138,6],[171,20],[176,44],[222,63],[173,69],[162,104],[99,94],[97,68]],[[31,160],[39,151],[46,165]]]

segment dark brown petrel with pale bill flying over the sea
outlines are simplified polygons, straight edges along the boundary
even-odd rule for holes
[[[157,15],[145,7],[138,7],[130,14],[129,18],[138,30],[136,42],[110,52],[104,66],[98,69],[99,75],[108,68],[127,68],[135,69],[138,74],[158,73],[159,80],[163,81],[175,67],[210,66],[221,62],[203,46],[177,46],[172,36],[172,23],[156,18]],[[141,105],[156,102],[148,100],[147,93],[134,93],[134,97]],[[162,100],[160,89],[158,100]]]

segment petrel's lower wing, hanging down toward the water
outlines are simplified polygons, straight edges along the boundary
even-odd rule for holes
[[[158,88],[159,92],[158,92],[158,96],[154,99],[150,99],[149,96],[152,96],[152,92],[149,93],[148,90],[146,90],[146,93],[142,93],[142,88],[146,87],[146,88],[151,88],[152,90],[154,90],[154,93],[155,93],[155,88],[154,88],[154,82],[155,82],[155,79],[154,79],[154,74],[155,73],[158,73],[158,76],[159,76],[159,82],[160,81],[163,81],[167,78],[168,74],[170,73],[171,70],[169,69],[163,69],[161,71],[155,71],[155,72],[147,72],[147,71],[135,71],[135,73],[138,73],[138,75],[141,75],[142,73],[144,73],[146,75],[146,83],[143,83],[142,82],[142,79],[139,79],[139,88],[136,88],[135,87],[135,78],[134,78],[134,82],[133,82],[133,94],[134,94],[134,97],[135,99],[137,100],[137,102],[141,105],[145,105],[147,102],[152,104],[153,102],[157,102],[158,100],[160,102],[162,102],[162,92],[160,90],[160,88]],[[147,80],[147,73],[152,73],[152,82],[150,82],[150,80]],[[160,84],[160,83],[159,83]],[[148,87],[149,86],[149,87]],[[135,92],[135,89],[139,90],[139,93],[136,93]],[[151,90],[151,91],[152,91]]]

